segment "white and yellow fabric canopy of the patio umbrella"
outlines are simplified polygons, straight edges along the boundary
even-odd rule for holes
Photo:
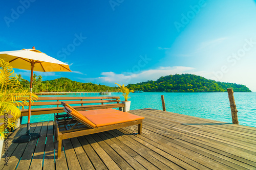
[[[34,71],[71,71],[69,65],[35,49],[0,52],[0,58],[9,61],[13,68],[31,70],[34,60]]]

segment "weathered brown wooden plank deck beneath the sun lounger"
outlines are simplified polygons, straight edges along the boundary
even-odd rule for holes
[[[34,123],[42,136],[12,143],[25,134],[20,126],[8,139],[8,166],[1,169],[256,169],[256,128],[164,112],[130,111],[144,116],[137,126],[63,140],[55,159],[53,122]]]

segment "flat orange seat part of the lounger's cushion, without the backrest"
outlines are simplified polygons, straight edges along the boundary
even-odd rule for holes
[[[122,112],[122,111],[87,115],[86,117],[89,120],[91,120],[91,122],[94,123],[96,127],[108,126],[108,125],[114,125],[114,124],[120,124],[125,122],[131,122],[134,120],[144,119],[144,117],[133,115],[133,114]]]

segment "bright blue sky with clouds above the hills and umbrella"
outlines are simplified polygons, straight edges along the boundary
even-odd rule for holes
[[[189,73],[256,91],[256,2],[6,1],[0,51],[36,47],[73,72],[36,72],[115,86]],[[25,79],[28,70],[15,69]]]

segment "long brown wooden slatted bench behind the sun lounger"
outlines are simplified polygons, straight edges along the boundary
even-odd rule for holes
[[[125,107],[122,104],[119,96],[100,96],[100,97],[39,97],[37,101],[32,104],[31,115],[51,114],[51,113],[63,113],[64,107],[61,106],[61,102],[65,102],[72,105],[77,111],[96,110],[96,109],[109,109],[119,108],[121,110]],[[79,106],[74,106],[77,104]],[[89,105],[90,104],[90,105]],[[50,106],[47,108],[33,108],[33,106]],[[22,109],[22,115],[28,116],[28,109]]]

